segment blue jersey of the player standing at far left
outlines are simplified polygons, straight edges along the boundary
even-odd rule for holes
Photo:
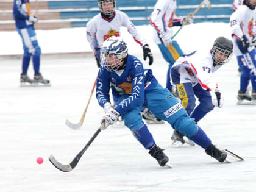
[[[18,29],[24,29],[33,25],[29,21],[29,15],[31,15],[29,0],[14,0],[13,18]]]

